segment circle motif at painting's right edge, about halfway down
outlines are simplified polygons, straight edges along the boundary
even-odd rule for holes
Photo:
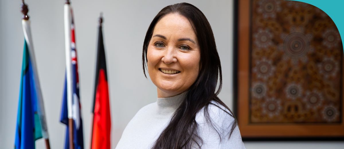
[[[318,64],[319,73],[325,78],[336,76],[339,71],[339,64],[334,60],[334,57],[324,57],[323,61]]]

